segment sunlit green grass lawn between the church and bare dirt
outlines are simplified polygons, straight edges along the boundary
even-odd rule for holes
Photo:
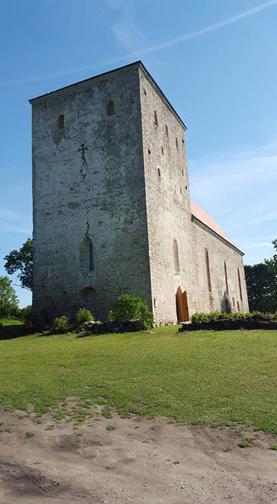
[[[121,413],[277,433],[277,331],[25,336],[0,341],[0,372],[2,406],[101,397]]]

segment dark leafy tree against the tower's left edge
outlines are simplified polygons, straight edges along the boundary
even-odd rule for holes
[[[33,240],[28,240],[17,250],[12,250],[4,257],[4,268],[9,275],[19,272],[18,279],[21,287],[28,290],[33,288]]]

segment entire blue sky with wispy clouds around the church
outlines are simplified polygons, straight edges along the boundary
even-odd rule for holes
[[[192,198],[244,263],[270,257],[276,26],[277,0],[1,0],[0,275],[3,256],[32,233],[28,98],[138,59],[188,127]]]

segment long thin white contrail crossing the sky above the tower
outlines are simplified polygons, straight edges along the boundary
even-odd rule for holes
[[[228,26],[229,24],[236,23],[237,21],[240,21],[241,19],[245,19],[246,17],[253,16],[257,14],[258,12],[261,12],[262,10],[265,10],[271,6],[276,5],[277,0],[269,0],[264,3],[260,3],[260,5],[253,7],[249,10],[244,10],[244,12],[240,12],[240,14],[233,16],[233,17],[228,17],[227,19],[224,19],[223,21],[219,21],[218,23],[211,24],[210,26],[206,26],[205,28],[201,28],[200,30],[194,31],[192,33],[187,33],[186,35],[181,35],[181,37],[177,37],[176,39],[168,40],[167,42],[161,42],[160,44],[150,46],[145,49],[141,49],[140,51],[134,51],[129,54],[125,54],[124,56],[118,56],[118,58],[112,58],[110,60],[105,60],[102,62],[98,62],[95,64],[88,64],[84,67],[75,67],[71,69],[66,69],[64,71],[59,71],[59,72],[54,72],[54,73],[46,73],[45,75],[40,75],[40,76],[33,76],[33,77],[25,77],[25,78],[19,78],[19,79],[14,79],[14,80],[3,80],[2,82],[0,81],[0,87],[4,86],[12,86],[12,85],[19,85],[19,84],[24,84],[26,82],[39,82],[41,80],[46,80],[46,79],[52,79],[56,77],[61,77],[65,75],[69,75],[71,73],[76,73],[80,71],[86,71],[86,70],[91,70],[97,67],[102,67],[102,66],[107,66],[109,64],[114,64],[118,62],[125,61],[127,58],[141,58],[141,55],[144,54],[149,54],[149,53],[154,53],[155,51],[160,51],[161,49],[165,49],[166,47],[173,46],[175,44],[181,44],[181,42],[186,42],[186,40],[191,40],[195,39],[197,37],[201,37],[202,35],[205,35],[206,33],[210,33],[211,31],[219,30],[220,28],[223,28],[224,26]]]

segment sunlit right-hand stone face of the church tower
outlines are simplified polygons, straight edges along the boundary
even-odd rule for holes
[[[186,127],[144,71],[140,84],[152,306],[158,324],[176,323],[177,288],[193,283]]]

